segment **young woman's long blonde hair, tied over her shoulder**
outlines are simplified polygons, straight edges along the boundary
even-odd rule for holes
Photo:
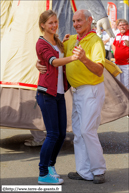
[[[44,11],[43,13],[41,13],[41,15],[39,17],[39,28],[40,28],[40,31],[42,33],[44,32],[44,28],[41,26],[41,24],[42,23],[45,24],[47,22],[47,20],[52,16],[57,17],[56,13],[52,10],[47,10],[47,11]],[[57,34],[54,34],[54,40],[55,40],[58,48],[60,49],[60,51],[63,53],[64,52],[64,46],[63,46],[63,43],[58,38]]]

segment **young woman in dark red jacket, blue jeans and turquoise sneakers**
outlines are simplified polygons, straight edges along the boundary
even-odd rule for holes
[[[65,64],[77,60],[75,54],[63,58],[63,44],[58,39],[58,19],[55,12],[47,10],[40,15],[39,27],[43,36],[36,43],[38,59],[47,67],[39,75],[36,99],[41,109],[47,136],[42,145],[39,163],[39,184],[62,184],[56,173],[57,155],[66,136],[66,105],[64,92],[68,90]]]

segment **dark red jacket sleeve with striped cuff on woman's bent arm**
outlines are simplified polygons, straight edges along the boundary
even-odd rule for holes
[[[52,50],[50,50],[50,47],[47,46],[47,44],[40,43],[36,47],[36,50],[38,52],[38,55],[42,56],[43,60],[47,61],[47,63],[52,65],[52,61],[56,59],[56,57],[54,56],[54,53],[52,52]]]

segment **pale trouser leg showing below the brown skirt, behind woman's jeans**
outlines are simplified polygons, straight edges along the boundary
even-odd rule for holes
[[[36,141],[36,142],[40,142],[40,141],[42,141],[43,139],[46,138],[46,135],[45,135],[45,133],[43,131],[40,131],[40,130],[39,131],[30,130],[30,132],[31,132],[31,134],[32,134],[32,136],[34,138],[34,141]]]

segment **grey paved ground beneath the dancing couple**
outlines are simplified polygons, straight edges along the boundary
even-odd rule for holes
[[[95,185],[92,181],[75,181],[67,177],[75,171],[73,134],[67,133],[58,156],[56,169],[64,179],[64,193],[127,193],[129,192],[127,117],[101,125],[98,133],[107,164],[106,183]],[[26,147],[29,130],[1,128],[1,185],[37,185],[40,147]]]

